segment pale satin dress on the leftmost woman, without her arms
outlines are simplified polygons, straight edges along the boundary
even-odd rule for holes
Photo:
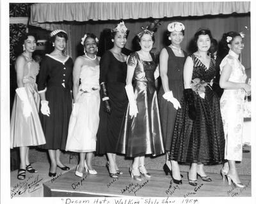
[[[31,115],[27,118],[23,115],[23,102],[15,94],[11,124],[10,124],[10,148],[28,147],[45,144],[44,131],[38,115],[40,96],[37,91],[36,75],[39,72],[39,64],[35,61],[27,62],[24,66],[23,84],[28,94],[32,108]]]

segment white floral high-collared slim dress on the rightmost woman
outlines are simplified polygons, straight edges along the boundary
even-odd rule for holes
[[[228,63],[232,66],[230,82],[244,83],[246,73],[244,66],[238,60],[239,55],[229,51],[221,61],[220,72]],[[221,115],[225,133],[225,159],[242,161],[243,154],[243,113],[244,113],[244,89],[225,89],[220,99]]]

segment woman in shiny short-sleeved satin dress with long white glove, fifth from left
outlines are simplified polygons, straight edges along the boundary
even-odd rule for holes
[[[131,177],[141,181],[141,175],[151,177],[145,168],[145,155],[163,154],[164,145],[154,76],[158,62],[156,55],[150,53],[154,43],[154,32],[146,28],[138,34],[138,38],[141,50],[132,53],[127,59],[125,91],[129,105],[116,152],[134,157],[130,168]]]

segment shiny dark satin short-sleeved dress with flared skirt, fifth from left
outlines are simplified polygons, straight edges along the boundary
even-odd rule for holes
[[[138,106],[136,117],[129,115],[129,105],[127,106],[116,146],[116,152],[126,154],[127,157],[145,154],[157,156],[164,153],[154,78],[157,60],[156,55],[151,54],[151,57],[153,61],[143,61],[140,55],[134,52],[127,59],[127,65],[135,68],[133,88]]]

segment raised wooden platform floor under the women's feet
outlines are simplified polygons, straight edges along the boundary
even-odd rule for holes
[[[222,180],[220,174],[207,173],[212,182],[204,182],[198,177],[198,186],[188,184],[187,172],[184,175],[183,184],[172,182],[170,175],[166,176],[161,170],[148,170],[152,178],[138,182],[129,175],[128,168],[120,168],[124,171],[118,179],[112,179],[105,167],[95,166],[97,175],[84,173],[83,178],[74,175],[75,170],[60,175],[54,180],[45,182],[44,196],[53,197],[83,197],[83,196],[140,196],[140,197],[250,197],[252,185],[250,175],[240,175],[244,189],[229,186],[227,179]]]

